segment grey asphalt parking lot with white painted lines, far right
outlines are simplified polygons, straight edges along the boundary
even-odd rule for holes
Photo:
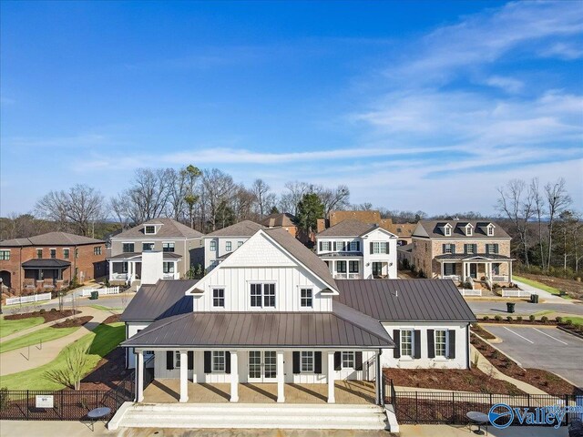
[[[484,327],[503,340],[496,347],[523,367],[555,372],[583,388],[583,340],[555,327]]]

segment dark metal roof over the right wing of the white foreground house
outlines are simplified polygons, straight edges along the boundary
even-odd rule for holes
[[[341,302],[381,321],[476,321],[449,279],[336,279]]]

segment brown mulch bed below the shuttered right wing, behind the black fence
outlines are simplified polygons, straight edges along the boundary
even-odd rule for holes
[[[524,394],[515,385],[488,377],[478,369],[384,369],[384,375],[401,387]]]

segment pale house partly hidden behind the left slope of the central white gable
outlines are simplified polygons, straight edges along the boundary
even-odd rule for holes
[[[265,227],[251,220],[243,220],[207,234],[204,238],[205,270],[217,267],[259,229],[265,229]]]

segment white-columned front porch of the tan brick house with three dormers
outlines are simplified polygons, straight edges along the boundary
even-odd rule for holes
[[[507,285],[512,282],[512,261],[504,255],[465,255],[449,254],[435,257],[439,263],[438,272],[441,279],[455,282],[469,282],[485,285],[492,289],[494,284]]]

